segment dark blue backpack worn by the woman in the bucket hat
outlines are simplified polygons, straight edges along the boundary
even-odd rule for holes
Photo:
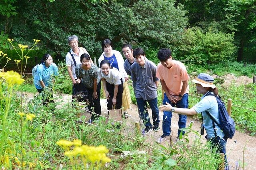
[[[215,96],[215,95],[212,93],[208,93],[208,94],[206,94],[206,96]],[[219,109],[219,114],[220,114],[219,115],[220,124],[217,123],[217,121],[212,117],[212,115],[210,115],[210,113],[208,111],[206,111],[206,113],[212,119],[213,129],[215,129],[215,124],[214,124],[214,122],[215,122],[218,125],[218,127],[220,127],[220,129],[223,131],[225,136],[227,138],[232,139],[232,137],[234,136],[234,133],[236,131],[234,119],[232,119],[230,117],[230,115],[228,115],[228,111],[225,107],[225,104],[222,102],[220,96],[215,96],[215,97],[216,97],[216,100],[218,103],[218,109]],[[214,130],[214,135],[217,136],[216,130]]]

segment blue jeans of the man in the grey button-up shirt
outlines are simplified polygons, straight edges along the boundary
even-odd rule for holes
[[[159,110],[158,110],[158,106],[157,106],[157,98],[154,98],[152,100],[143,100],[143,99],[139,99],[136,98],[138,107],[140,109],[140,115],[143,119],[144,125],[146,127],[148,126],[152,126],[152,124],[150,123],[150,118],[148,116],[148,109],[147,109],[147,102],[150,106],[150,108],[152,109],[152,118],[153,118],[153,125],[155,127],[159,126]]]

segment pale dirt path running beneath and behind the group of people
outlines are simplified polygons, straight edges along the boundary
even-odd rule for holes
[[[26,98],[29,100],[33,97],[34,94],[26,94]],[[56,98],[56,100],[58,100]],[[70,102],[71,96],[62,95],[62,100],[64,102]],[[100,100],[101,107],[102,107],[102,115],[106,115],[107,107],[106,107],[106,99]],[[132,108],[128,109],[129,117],[126,119],[126,124],[135,126],[135,122],[139,121],[137,106],[132,104]],[[151,110],[149,109],[150,113],[150,120],[152,120]],[[86,121],[90,118],[90,114],[86,113]],[[162,112],[160,112],[162,115]],[[192,117],[188,116],[187,126],[190,124],[191,121],[194,121],[192,129],[199,131],[201,122],[199,120],[192,119]],[[172,141],[176,142],[177,132],[178,132],[178,114],[173,114],[172,117]],[[152,132],[149,135],[144,136],[146,140],[153,144],[158,137],[162,135],[162,121],[160,122],[160,131]],[[194,134],[189,135],[190,139],[196,137]],[[202,141],[206,141],[204,137],[201,138]],[[165,142],[164,145],[169,145],[168,142]],[[256,169],[256,137],[251,137],[245,133],[240,133],[236,131],[233,139],[228,139],[226,145],[226,152],[227,156],[230,159],[230,163],[232,168],[234,169],[236,165],[236,161],[243,162],[244,161],[244,169],[245,170],[255,170]],[[244,153],[243,153],[244,152]],[[244,159],[244,160],[243,160]]]

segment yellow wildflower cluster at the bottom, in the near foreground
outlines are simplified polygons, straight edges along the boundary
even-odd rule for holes
[[[81,156],[82,158],[85,158],[88,162],[95,163],[95,162],[110,162],[111,159],[106,156],[106,153],[108,153],[108,149],[105,146],[88,146],[88,145],[82,145],[82,142],[80,140],[74,140],[66,141],[61,139],[60,141],[56,142],[57,145],[60,145],[63,149],[66,150],[64,153],[68,157],[72,156]],[[70,150],[71,146],[75,146],[73,150]]]

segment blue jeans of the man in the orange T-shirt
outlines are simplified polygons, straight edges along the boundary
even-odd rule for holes
[[[166,94],[164,93],[164,99],[163,99],[163,104],[166,104],[168,102],[169,104],[174,107],[178,108],[188,108],[188,94],[184,94],[181,100],[179,100],[176,104],[172,103]],[[171,121],[172,121],[172,112],[171,111],[164,111],[164,116],[163,116],[163,135],[169,136],[171,134]],[[187,123],[187,116],[186,115],[180,115],[179,114],[179,130],[178,130],[178,136],[180,135],[181,128],[186,127]],[[185,133],[184,131],[182,132],[183,134]]]

